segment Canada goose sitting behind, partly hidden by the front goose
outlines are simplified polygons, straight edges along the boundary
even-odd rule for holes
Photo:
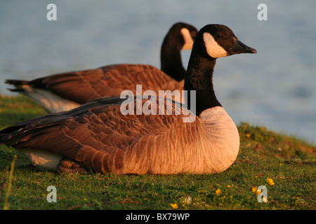
[[[183,81],[178,81],[185,78],[185,69],[180,51],[192,49],[196,35],[197,29],[183,22],[169,29],[160,53],[162,70],[147,64],[113,64],[6,83],[15,85],[9,90],[25,94],[51,113],[74,109],[98,97],[118,96],[123,90],[134,90],[136,84],[143,91],[181,90]]]

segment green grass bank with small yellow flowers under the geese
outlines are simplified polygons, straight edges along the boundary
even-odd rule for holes
[[[0,97],[0,129],[46,112],[25,97]],[[315,209],[316,146],[247,123],[238,125],[236,162],[211,175],[57,174],[0,146],[0,209]],[[18,155],[8,192],[11,162]],[[267,179],[272,179],[270,185]],[[47,202],[48,186],[57,202]],[[259,203],[254,187],[268,188]],[[221,193],[216,194],[220,189]],[[218,191],[217,191],[218,192]]]

